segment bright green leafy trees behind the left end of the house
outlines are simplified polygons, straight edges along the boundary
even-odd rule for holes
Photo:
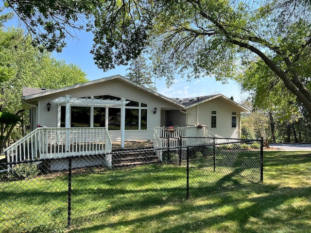
[[[24,120],[27,120],[27,114],[21,110],[22,87],[59,88],[87,80],[79,67],[57,61],[46,51],[36,50],[22,30],[2,28],[0,33],[4,41],[0,44],[0,51],[3,51],[0,58],[5,56],[12,70],[0,82],[0,147],[3,149],[10,143],[11,133],[23,129]]]

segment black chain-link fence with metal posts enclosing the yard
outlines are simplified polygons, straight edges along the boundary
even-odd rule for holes
[[[0,164],[9,168],[0,174],[0,232],[62,232],[107,213],[262,182],[262,141],[184,139],[209,142]]]

